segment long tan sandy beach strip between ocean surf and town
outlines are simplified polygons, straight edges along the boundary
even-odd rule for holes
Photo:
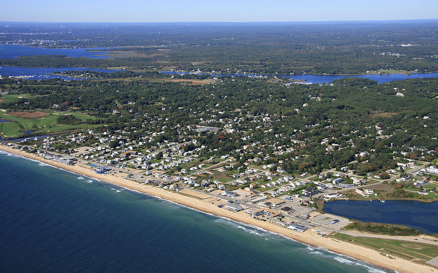
[[[380,255],[378,251],[366,248],[364,246],[358,246],[355,244],[335,240],[328,237],[316,237],[315,236],[316,232],[312,232],[310,229],[303,233],[297,233],[292,230],[282,228],[280,226],[274,225],[269,222],[261,222],[252,218],[244,211],[239,211],[234,213],[224,208],[219,208],[217,205],[211,203],[212,201],[211,199],[213,197],[205,198],[201,200],[195,199],[187,195],[179,194],[175,191],[168,191],[163,188],[158,188],[148,184],[140,184],[138,182],[130,181],[112,175],[96,174],[91,169],[82,166],[83,164],[82,165],[61,164],[61,163],[53,162],[51,160],[43,159],[41,157],[38,157],[36,154],[30,154],[21,150],[13,149],[8,146],[0,145],[0,150],[10,154],[15,154],[31,160],[35,160],[44,164],[52,165],[56,168],[60,168],[68,172],[85,175],[90,178],[95,178],[98,179],[99,181],[104,180],[106,182],[133,191],[138,191],[140,193],[145,193],[152,197],[158,197],[167,201],[171,201],[179,205],[183,205],[188,208],[195,209],[202,213],[213,215],[215,217],[227,218],[232,221],[236,221],[238,223],[243,223],[256,228],[261,228],[268,232],[293,239],[300,243],[310,245],[318,249],[324,249],[336,254],[346,255],[354,259],[357,259],[359,261],[365,261],[366,263],[370,263],[372,265],[376,265],[384,269],[397,270],[403,273],[426,273],[426,272],[430,273],[436,270],[433,267],[413,263],[399,257],[394,257],[393,259],[390,259],[387,256]],[[217,198],[213,198],[213,199],[216,200]]]

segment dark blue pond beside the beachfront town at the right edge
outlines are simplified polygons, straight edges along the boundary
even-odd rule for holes
[[[325,213],[363,222],[399,224],[426,234],[438,234],[438,202],[338,200],[326,202]]]

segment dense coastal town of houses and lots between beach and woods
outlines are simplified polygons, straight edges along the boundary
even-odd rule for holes
[[[200,133],[219,130],[204,126],[194,126],[193,129]],[[2,145],[36,154],[48,161],[88,168],[103,180],[116,176],[150,184],[211,202],[233,213],[243,211],[256,220],[296,232],[310,229],[319,237],[333,232],[348,234],[343,230],[349,224],[347,218],[322,213],[325,201],[359,199],[384,202],[385,197],[379,193],[391,182],[412,183],[411,188],[403,190],[415,193],[417,198],[431,196],[435,199],[438,186],[438,182],[431,180],[431,175],[438,174],[438,168],[420,160],[405,159],[409,153],[403,151],[398,157],[397,168],[384,172],[389,177],[387,179],[373,173],[359,176],[347,167],[314,175],[303,172],[295,177],[278,167],[281,162],[263,164],[269,158],[263,152],[238,164],[237,159],[260,145],[251,142],[251,136],[246,137],[247,144],[233,154],[201,157],[200,151],[208,147],[201,145],[196,138],[183,143],[154,143],[156,146],[144,150],[142,146],[148,137],[130,140],[124,137],[126,133],[123,130],[112,134],[96,133],[89,129],[41,138],[34,145],[21,144],[29,143],[30,139],[21,143],[3,142]],[[150,138],[154,135],[151,133]],[[114,141],[118,146],[111,147],[109,143]],[[91,142],[94,145],[84,146]],[[59,143],[73,147],[61,151],[54,148]],[[415,147],[409,149],[424,154],[434,152]],[[355,157],[366,154],[363,151]]]

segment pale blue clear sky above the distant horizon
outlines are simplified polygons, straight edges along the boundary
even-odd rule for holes
[[[438,18],[438,0],[4,0],[0,21],[250,22]]]

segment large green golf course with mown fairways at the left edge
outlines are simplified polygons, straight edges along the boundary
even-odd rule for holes
[[[23,135],[23,130],[34,130],[34,133],[53,133],[62,130],[76,129],[76,128],[92,128],[98,125],[64,125],[57,124],[56,119],[60,115],[71,114],[74,117],[86,121],[87,119],[96,119],[96,117],[85,115],[76,112],[60,112],[60,111],[46,111],[48,114],[45,117],[29,118],[14,116],[8,112],[0,111],[0,119],[10,120],[12,122],[2,122],[0,125],[1,134],[4,137],[18,137]],[[22,127],[20,127],[21,125]]]

